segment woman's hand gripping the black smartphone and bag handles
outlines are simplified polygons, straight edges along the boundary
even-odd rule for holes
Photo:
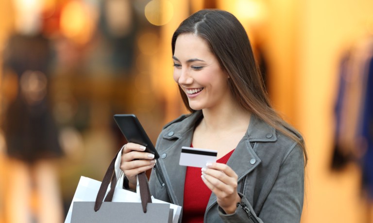
[[[122,150],[120,169],[127,176],[132,190],[136,189],[136,175],[151,169],[156,162],[154,154],[144,151],[145,146],[136,143],[127,143]]]

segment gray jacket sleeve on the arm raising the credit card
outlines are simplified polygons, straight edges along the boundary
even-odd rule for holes
[[[219,207],[220,218],[226,223],[299,223],[304,199],[304,155],[302,148],[294,144],[280,166],[271,192],[260,210],[241,196],[241,204],[233,214],[225,214]],[[246,207],[245,207],[246,206]]]

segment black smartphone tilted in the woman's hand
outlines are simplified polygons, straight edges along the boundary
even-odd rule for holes
[[[154,159],[159,158],[152,141],[134,114],[115,114],[114,120],[120,131],[129,143],[137,143],[146,147],[145,152],[154,154]]]

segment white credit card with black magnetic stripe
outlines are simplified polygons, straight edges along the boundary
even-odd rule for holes
[[[183,146],[181,147],[179,165],[205,167],[206,163],[216,162],[217,156],[217,150],[199,149]]]

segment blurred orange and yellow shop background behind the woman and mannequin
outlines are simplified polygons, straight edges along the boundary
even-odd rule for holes
[[[273,106],[305,137],[302,223],[373,222],[358,163],[331,170],[339,64],[373,36],[372,0],[1,0],[0,126],[17,92],[17,79],[1,64],[8,38],[42,33],[54,50],[48,94],[65,152],[52,161],[61,204],[56,221],[64,221],[80,176],[101,180],[120,148],[113,114],[135,113],[155,143],[162,126],[186,112],[172,79],[170,39],[202,8],[241,21],[265,65]],[[13,223],[8,179],[18,175],[17,161],[7,157],[2,135],[0,223]],[[40,201],[31,194],[36,213]]]

